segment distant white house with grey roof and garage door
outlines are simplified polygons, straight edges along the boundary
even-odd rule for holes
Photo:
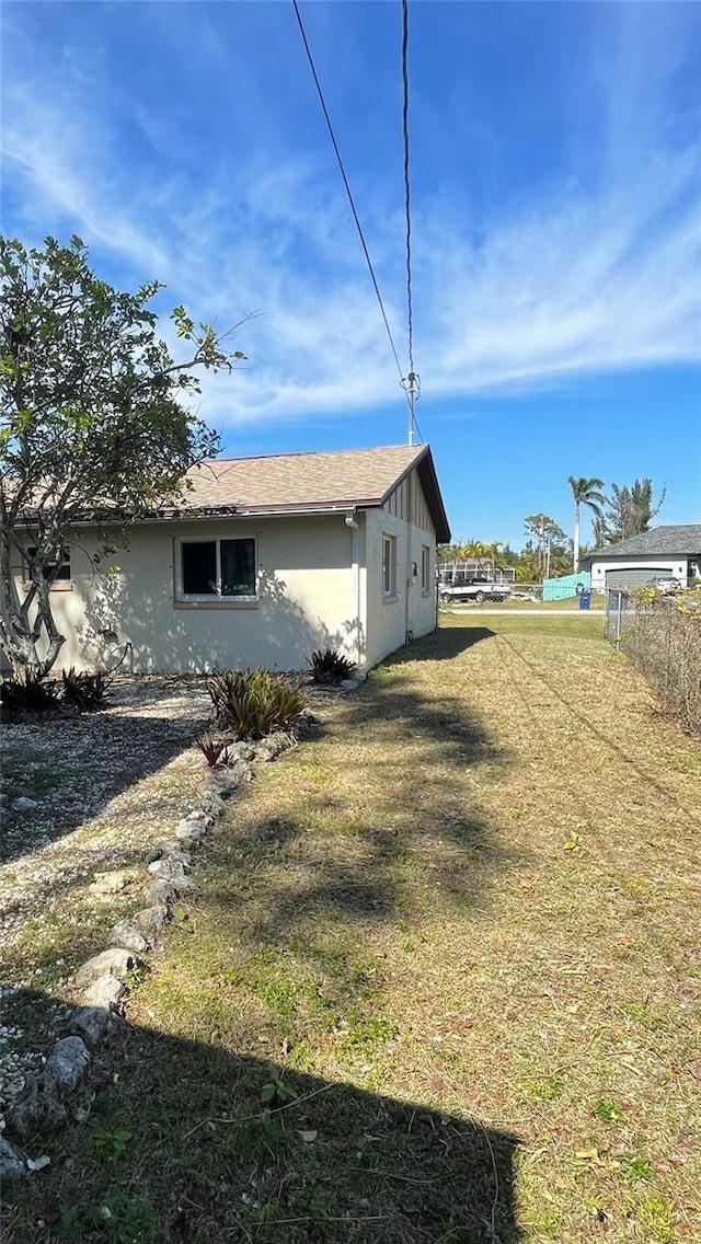
[[[701,576],[701,524],[651,527],[581,559],[591,570],[591,587],[644,587],[651,578]]]

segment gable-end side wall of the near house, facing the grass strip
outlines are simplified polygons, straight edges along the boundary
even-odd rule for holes
[[[382,540],[396,541],[396,591],[382,591]],[[428,586],[422,588],[422,549],[428,549]],[[436,627],[436,532],[417,473],[391,494],[382,510],[366,513],[367,666],[407,638]]]

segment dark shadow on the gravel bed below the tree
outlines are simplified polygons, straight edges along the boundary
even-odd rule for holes
[[[192,746],[205,717],[139,718],[98,712],[4,725],[2,789],[10,810],[2,816],[0,862],[41,850],[100,817],[117,795]],[[37,806],[15,811],[11,801],[17,796],[29,796]],[[179,815],[177,795],[164,789],[157,799],[164,820]]]

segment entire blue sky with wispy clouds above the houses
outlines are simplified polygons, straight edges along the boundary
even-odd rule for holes
[[[400,5],[306,2],[402,363]],[[413,2],[415,358],[453,534],[572,527],[567,476],[701,521],[701,9]],[[397,444],[406,403],[286,2],[9,2],[2,231],[78,233],[249,362],[229,455]],[[408,369],[408,364],[406,364]]]

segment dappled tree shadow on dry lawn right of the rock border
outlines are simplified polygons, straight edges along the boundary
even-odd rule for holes
[[[325,750],[322,778],[315,748]],[[386,744],[386,746],[385,746]],[[396,746],[406,746],[403,764]],[[390,751],[390,746],[392,751]],[[476,806],[466,778],[508,755],[462,704],[423,695],[400,667],[345,700],[303,743],[279,815],[243,794],[208,840],[195,904],[254,945],[294,945],[324,959],[327,922],[374,924],[474,908],[523,853]]]

